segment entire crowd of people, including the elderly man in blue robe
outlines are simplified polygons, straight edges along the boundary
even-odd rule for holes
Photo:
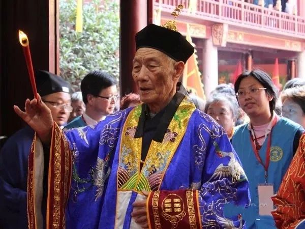
[[[170,22],[135,41],[139,94],[119,100],[104,71],[73,94],[36,73],[38,98],[14,106],[28,126],[0,152],[0,228],[305,228],[305,81],[279,93],[245,71],[202,101]]]

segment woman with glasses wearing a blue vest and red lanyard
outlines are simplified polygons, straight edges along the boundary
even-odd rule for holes
[[[232,137],[250,183],[251,204],[243,210],[242,218],[250,229],[276,228],[270,196],[278,191],[304,130],[274,111],[277,89],[267,73],[242,73],[234,90],[240,107],[250,118]]]

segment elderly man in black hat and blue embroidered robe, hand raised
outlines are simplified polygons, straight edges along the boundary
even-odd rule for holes
[[[65,133],[41,100],[27,100],[25,112],[14,107],[56,158],[47,223],[57,212],[68,228],[245,228],[223,208],[249,204],[247,177],[224,129],[178,83],[194,48],[172,25],[149,24],[136,35],[132,76],[142,105]]]

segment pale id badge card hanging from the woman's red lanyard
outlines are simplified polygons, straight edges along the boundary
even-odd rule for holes
[[[273,184],[258,184],[259,215],[270,215],[274,210],[271,196],[274,195]]]

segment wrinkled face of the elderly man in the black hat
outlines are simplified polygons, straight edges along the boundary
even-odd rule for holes
[[[168,101],[174,85],[174,62],[152,48],[139,48],[133,60],[132,76],[142,102],[158,104]]]

